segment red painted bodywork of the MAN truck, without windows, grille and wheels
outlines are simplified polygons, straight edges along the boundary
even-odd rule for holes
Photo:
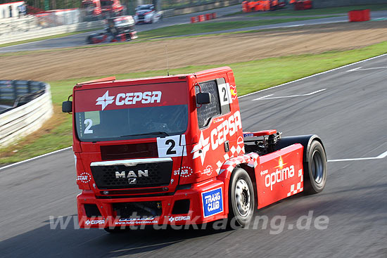
[[[111,79],[111,80],[110,80]],[[195,85],[214,79],[222,79],[227,87],[229,98],[229,112],[212,117],[209,124],[199,129],[196,108]],[[175,83],[166,88],[163,84]],[[161,85],[158,87],[158,85]],[[81,142],[77,138],[75,122],[73,120],[73,150],[76,157],[77,185],[82,193],[77,197],[78,216],[81,227],[130,226],[139,224],[170,224],[176,217],[189,217],[173,224],[201,224],[227,217],[229,179],[236,165],[245,165],[246,169],[255,174],[258,208],[265,207],[290,195],[303,191],[303,146],[293,144],[274,153],[258,156],[256,153],[245,153],[241,114],[237,98],[234,73],[229,67],[205,70],[189,75],[175,75],[170,77],[153,77],[144,79],[115,80],[113,78],[77,84],[73,90],[73,112],[100,110],[96,106],[96,98],[108,90],[110,96],[115,96],[124,89],[135,91],[163,92],[163,103],[187,103],[189,109],[188,127],[182,136],[185,144],[184,154],[172,157],[173,167],[169,186],[110,189],[108,195],[96,187],[91,176],[91,162],[101,162],[101,146],[120,144],[156,143],[158,138],[139,138],[122,141]],[[90,90],[90,91],[87,91]],[[118,95],[117,95],[118,96]],[[222,98],[222,96],[221,96]],[[227,105],[227,104],[226,104]],[[130,108],[140,108],[142,104]],[[115,103],[106,109],[122,108]],[[145,120],[145,119],[144,119]],[[253,133],[254,136],[275,134],[277,131],[268,130]],[[229,151],[226,152],[224,142],[228,141]],[[147,157],[158,158],[158,157]],[[177,186],[187,186],[179,189]],[[205,216],[203,193],[214,189],[221,189],[222,211],[211,216]],[[160,195],[163,193],[164,195]],[[165,193],[169,193],[165,195]],[[106,198],[108,196],[109,198]],[[177,200],[190,200],[188,214],[172,214],[172,208]],[[112,204],[120,202],[159,201],[163,207],[160,217],[150,220],[118,221]],[[86,217],[84,204],[96,204],[102,217]]]

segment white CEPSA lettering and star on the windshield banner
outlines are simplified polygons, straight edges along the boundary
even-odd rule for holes
[[[160,103],[161,94],[161,91],[144,91],[118,93],[117,96],[109,96],[109,91],[106,91],[103,96],[96,99],[96,105],[101,105],[102,110],[104,110],[109,104],[112,104],[114,102],[115,105],[135,105],[136,103]]]

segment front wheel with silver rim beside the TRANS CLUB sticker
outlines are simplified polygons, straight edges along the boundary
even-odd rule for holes
[[[229,226],[247,226],[254,208],[255,196],[250,176],[244,169],[234,169],[229,183]]]

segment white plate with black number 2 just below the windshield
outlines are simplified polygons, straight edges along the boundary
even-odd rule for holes
[[[186,136],[172,135],[157,138],[158,157],[186,156]]]

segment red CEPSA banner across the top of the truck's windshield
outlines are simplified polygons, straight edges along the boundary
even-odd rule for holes
[[[75,91],[75,112],[146,108],[187,103],[185,82]]]

